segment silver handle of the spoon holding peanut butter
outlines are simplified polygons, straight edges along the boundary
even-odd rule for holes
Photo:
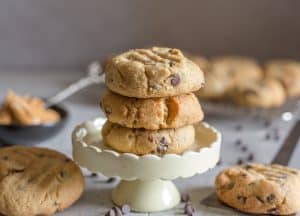
[[[72,83],[64,90],[60,91],[53,97],[50,97],[46,100],[46,107],[50,107],[52,105],[58,104],[65,100],[66,98],[70,97],[74,93],[78,92],[79,90],[92,85],[98,84],[103,82],[102,75],[104,74],[103,68],[99,62],[92,62],[88,66],[88,73],[86,77],[81,78],[80,80]]]

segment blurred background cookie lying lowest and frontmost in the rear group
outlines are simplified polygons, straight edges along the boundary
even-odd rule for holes
[[[280,82],[265,79],[236,87],[232,99],[241,106],[272,108],[284,104],[286,95]]]

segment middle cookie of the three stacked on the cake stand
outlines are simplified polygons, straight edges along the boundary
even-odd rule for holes
[[[193,93],[137,99],[106,91],[100,106],[109,121],[128,128],[179,128],[203,119],[199,101]]]

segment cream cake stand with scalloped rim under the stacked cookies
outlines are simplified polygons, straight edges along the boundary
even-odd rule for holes
[[[72,134],[73,158],[82,167],[122,181],[112,192],[117,205],[129,204],[137,212],[171,209],[180,202],[180,194],[171,180],[187,178],[213,168],[219,160],[221,135],[206,123],[196,128],[196,142],[181,155],[138,156],[118,153],[104,146],[103,118],[77,126]]]

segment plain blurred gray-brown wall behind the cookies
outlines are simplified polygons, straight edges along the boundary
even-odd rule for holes
[[[80,69],[131,47],[300,58],[297,0],[0,0],[0,69]]]

